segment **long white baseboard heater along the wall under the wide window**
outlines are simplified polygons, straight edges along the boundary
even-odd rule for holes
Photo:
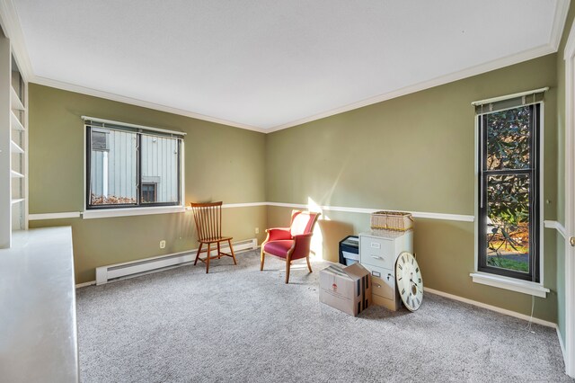
[[[234,245],[234,253],[241,253],[243,251],[257,248],[258,240],[256,238],[245,239],[243,241],[234,242],[232,245]],[[223,252],[229,252],[229,249],[229,246],[222,245]],[[96,267],[96,285],[134,278],[150,272],[161,272],[163,270],[179,266],[181,263],[190,263],[196,259],[197,252],[198,249],[193,249],[182,253],[160,255],[132,262]],[[212,251],[211,254],[217,255],[217,250]]]

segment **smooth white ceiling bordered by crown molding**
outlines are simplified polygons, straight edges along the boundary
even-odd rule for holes
[[[261,131],[550,53],[569,4],[12,2],[32,82]]]

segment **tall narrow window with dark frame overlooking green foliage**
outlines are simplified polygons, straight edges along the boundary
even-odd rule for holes
[[[538,282],[542,103],[534,95],[534,103],[524,96],[510,104],[477,117],[478,271]]]

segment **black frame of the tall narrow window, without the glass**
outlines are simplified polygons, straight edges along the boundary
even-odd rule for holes
[[[519,107],[529,107],[532,109],[530,127],[530,155],[532,167],[528,169],[513,169],[505,171],[487,171],[487,140],[486,116],[498,111],[488,111],[475,116],[476,123],[476,183],[477,194],[476,203],[476,234],[475,234],[475,267],[477,272],[482,272],[494,277],[505,277],[512,280],[527,281],[543,284],[543,152],[544,152],[544,102],[533,102],[531,104],[519,105],[509,109]],[[487,252],[485,244],[487,242],[487,179],[494,174],[528,174],[530,176],[529,190],[529,271],[517,272],[509,269],[498,268],[487,264]],[[477,276],[477,275],[475,275]]]

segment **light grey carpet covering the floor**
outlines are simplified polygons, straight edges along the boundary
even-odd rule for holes
[[[571,381],[555,330],[426,294],[420,310],[323,305],[319,271],[257,251],[77,290],[84,382]]]

